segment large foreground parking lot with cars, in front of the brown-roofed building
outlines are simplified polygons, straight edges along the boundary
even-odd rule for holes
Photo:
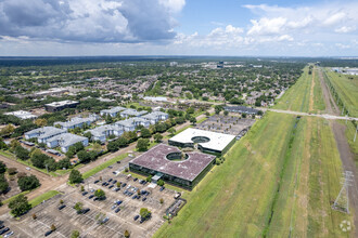
[[[80,191],[80,187],[64,185],[61,189],[62,194],[37,206],[28,214],[23,215],[21,221],[9,214],[0,220],[5,221],[4,225],[14,230],[12,237],[43,237],[51,230],[52,224],[56,230],[48,237],[71,237],[75,229],[80,232],[80,237],[124,237],[125,230],[128,230],[131,237],[151,237],[165,222],[163,215],[174,202],[175,191],[167,188],[161,190],[159,186],[152,188],[150,183],[135,181],[124,173],[115,175],[113,172],[120,168],[124,166],[114,164],[86,180],[82,184],[85,194]],[[102,181],[99,181],[100,178]],[[94,181],[99,182],[94,184]],[[108,185],[102,185],[105,182]],[[122,185],[116,191],[114,189],[117,187],[117,182]],[[99,188],[105,191],[105,200],[95,200],[95,197],[91,196]],[[61,200],[65,207],[59,210]],[[76,202],[81,202],[82,210],[89,209],[89,211],[86,214],[77,214],[73,208]],[[151,219],[143,223],[140,217],[135,221],[141,208],[148,208],[152,212]],[[34,213],[36,220],[33,219]],[[108,221],[100,224],[104,217]]]

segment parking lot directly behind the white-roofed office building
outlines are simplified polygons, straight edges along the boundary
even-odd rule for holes
[[[254,122],[254,119],[240,118],[238,116],[215,115],[209,117],[201,124],[197,124],[195,128],[206,131],[238,135],[242,130],[253,125]]]

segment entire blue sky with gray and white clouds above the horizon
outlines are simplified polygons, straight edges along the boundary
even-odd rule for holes
[[[358,56],[357,32],[357,0],[0,0],[0,56]]]

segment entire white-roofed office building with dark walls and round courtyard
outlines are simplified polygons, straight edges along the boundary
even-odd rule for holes
[[[234,135],[189,128],[169,138],[169,145],[192,147],[213,154],[225,154],[235,142]]]

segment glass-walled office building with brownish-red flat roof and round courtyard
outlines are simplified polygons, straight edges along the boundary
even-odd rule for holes
[[[182,154],[174,146],[159,144],[129,162],[129,170],[153,175],[152,182],[192,189],[215,164],[215,156],[203,153]]]

